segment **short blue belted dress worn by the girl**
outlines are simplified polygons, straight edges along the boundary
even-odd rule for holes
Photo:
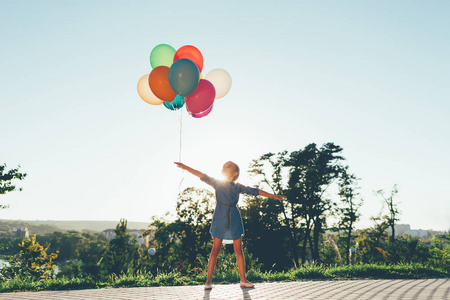
[[[236,182],[219,181],[208,175],[201,180],[216,190],[217,203],[209,232],[212,236],[224,240],[235,240],[243,236],[244,224],[236,207],[239,194],[258,196],[259,190]]]

